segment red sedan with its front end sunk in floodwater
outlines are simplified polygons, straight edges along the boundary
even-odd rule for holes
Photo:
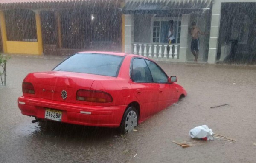
[[[118,127],[125,134],[186,96],[175,82],[143,56],[81,52],[52,71],[29,73],[18,107],[32,122]]]

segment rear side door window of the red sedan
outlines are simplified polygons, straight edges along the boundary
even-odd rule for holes
[[[153,82],[145,59],[135,58],[132,61],[131,79],[134,82]]]

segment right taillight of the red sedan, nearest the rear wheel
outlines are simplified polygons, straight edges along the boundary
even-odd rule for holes
[[[87,102],[112,102],[110,94],[96,90],[78,90],[76,100]]]

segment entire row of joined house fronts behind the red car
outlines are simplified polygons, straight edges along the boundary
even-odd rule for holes
[[[175,42],[168,43],[170,21]],[[122,51],[156,61],[256,63],[256,0],[0,0],[0,51]]]

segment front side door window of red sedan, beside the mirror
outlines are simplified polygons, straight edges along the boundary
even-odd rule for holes
[[[146,63],[148,64],[149,70],[151,72],[151,75],[153,77],[153,81],[155,83],[167,83],[168,77],[163,72],[163,70],[157,66],[154,62],[146,60]]]

